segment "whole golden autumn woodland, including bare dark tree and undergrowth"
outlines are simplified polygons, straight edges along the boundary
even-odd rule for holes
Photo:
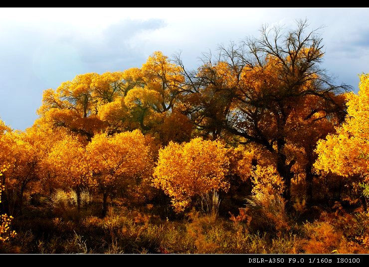
[[[324,54],[301,20],[44,90],[0,121],[0,253],[369,253],[369,74]]]

